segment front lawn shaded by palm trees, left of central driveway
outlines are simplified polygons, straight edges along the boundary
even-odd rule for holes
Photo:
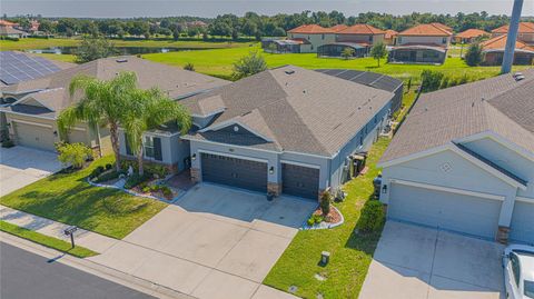
[[[86,182],[92,169],[112,161],[105,157],[83,170],[52,175],[0,198],[0,203],[121,239],[167,205]]]

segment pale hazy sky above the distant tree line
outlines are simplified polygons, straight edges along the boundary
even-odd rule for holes
[[[43,17],[132,18],[195,16],[216,17],[222,13],[243,16],[247,11],[261,14],[293,13],[304,10],[338,10],[345,16],[375,11],[406,14],[413,11],[451,13],[487,11],[511,14],[513,0],[0,0],[0,13],[42,14]],[[523,16],[534,16],[534,0],[524,0]]]

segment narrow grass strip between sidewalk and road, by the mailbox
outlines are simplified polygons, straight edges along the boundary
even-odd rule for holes
[[[0,230],[78,258],[88,258],[98,255],[97,252],[85,247],[76,246],[75,248],[71,248],[70,242],[44,236],[42,233],[18,227],[2,220],[0,220]]]

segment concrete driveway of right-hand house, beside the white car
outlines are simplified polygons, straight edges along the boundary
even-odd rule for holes
[[[503,249],[495,242],[388,221],[359,298],[504,298]]]

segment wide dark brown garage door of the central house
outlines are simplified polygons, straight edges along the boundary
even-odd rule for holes
[[[202,180],[267,192],[267,163],[202,153]]]

